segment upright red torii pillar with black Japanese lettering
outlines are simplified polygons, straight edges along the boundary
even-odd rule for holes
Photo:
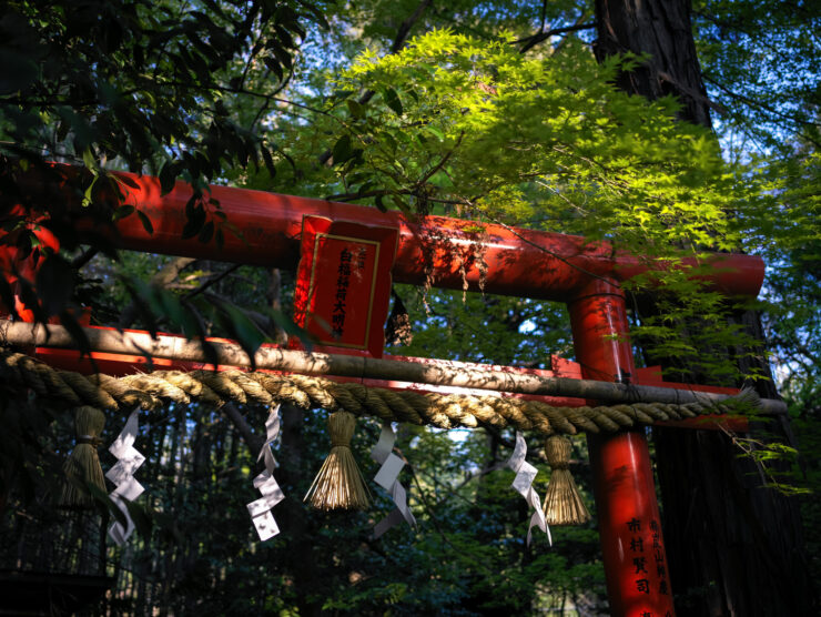
[[[625,296],[594,279],[568,303],[585,378],[629,382],[636,371]],[[588,434],[610,615],[672,617],[667,554],[643,429]]]

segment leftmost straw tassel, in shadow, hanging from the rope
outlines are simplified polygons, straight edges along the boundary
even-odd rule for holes
[[[105,415],[100,409],[89,406],[75,409],[77,445],[63,466],[65,483],[60,497],[62,507],[85,508],[91,506],[94,498],[87,488],[88,484],[105,492],[105,478],[100,466],[100,456],[97,454],[104,426]]]

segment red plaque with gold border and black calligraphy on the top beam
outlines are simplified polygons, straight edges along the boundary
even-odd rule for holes
[[[397,243],[396,229],[305,216],[296,324],[321,344],[381,357]]]

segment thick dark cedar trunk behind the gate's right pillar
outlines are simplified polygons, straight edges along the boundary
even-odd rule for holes
[[[649,99],[673,94],[679,117],[711,128],[688,0],[597,0],[596,54],[649,53],[617,84]],[[757,313],[736,323],[760,338]],[[732,350],[728,350],[732,353]],[[656,358],[658,360],[658,358]],[[741,368],[759,368],[759,394],[777,396],[763,353]],[[767,426],[789,437],[788,421]],[[678,614],[812,615],[813,591],[798,504],[762,487],[749,457],[711,431],[655,431],[662,520]]]

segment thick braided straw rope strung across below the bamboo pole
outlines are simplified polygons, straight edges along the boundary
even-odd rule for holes
[[[272,375],[230,370],[155,371],[112,377],[81,375],[52,368],[31,356],[0,351],[0,383],[33,391],[38,396],[71,406],[125,408],[140,405],[158,409],[169,402],[200,402],[222,406],[226,402],[270,406],[290,403],[303,408],[344,409],[383,421],[432,424],[440,428],[479,425],[511,426],[544,435],[616,432],[659,421],[692,418],[707,414],[737,413],[734,403],[754,403],[746,393],[714,405],[688,403],[632,403],[599,407],[559,407],[539,401],[504,396],[432,394],[411,390],[395,392],[358,383],[336,383],[325,377]]]

